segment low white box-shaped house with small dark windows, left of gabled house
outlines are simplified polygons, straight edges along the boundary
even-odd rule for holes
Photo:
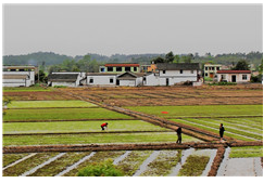
[[[91,87],[115,87],[117,74],[88,73],[86,84]]]

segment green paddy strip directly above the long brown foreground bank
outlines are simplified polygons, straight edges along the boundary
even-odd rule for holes
[[[96,133],[3,136],[3,145],[57,145],[57,144],[106,144],[106,143],[172,143],[175,132],[153,133]],[[183,142],[199,141],[183,135]]]

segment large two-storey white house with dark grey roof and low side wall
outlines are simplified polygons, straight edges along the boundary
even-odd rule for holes
[[[174,86],[199,81],[199,63],[156,64],[156,73],[145,77],[145,86]]]

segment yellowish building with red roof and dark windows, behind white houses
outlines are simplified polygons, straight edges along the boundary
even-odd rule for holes
[[[104,66],[100,66],[100,73],[140,73],[139,64],[105,64]]]

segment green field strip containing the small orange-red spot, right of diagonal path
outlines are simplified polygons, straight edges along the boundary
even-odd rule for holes
[[[263,115],[263,105],[137,106],[126,108],[164,118]],[[162,114],[162,112],[168,114]]]

